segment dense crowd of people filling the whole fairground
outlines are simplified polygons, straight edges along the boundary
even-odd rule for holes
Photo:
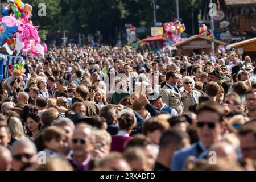
[[[232,51],[53,47],[1,81],[0,170],[255,170],[254,67]]]

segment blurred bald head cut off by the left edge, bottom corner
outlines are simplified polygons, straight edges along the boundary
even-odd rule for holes
[[[0,146],[0,171],[6,171],[11,168],[11,152],[3,146]]]

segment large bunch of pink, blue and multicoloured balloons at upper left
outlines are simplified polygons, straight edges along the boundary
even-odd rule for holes
[[[33,26],[30,21],[32,6],[24,4],[20,0],[10,0],[2,3],[4,17],[0,19],[0,47],[12,55],[20,53],[33,57],[34,55],[44,56],[47,51],[46,44],[41,44],[38,34],[38,26]]]

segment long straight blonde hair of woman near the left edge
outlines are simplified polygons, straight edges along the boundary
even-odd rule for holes
[[[28,140],[24,134],[22,122],[17,117],[10,117],[8,119],[9,132],[11,134],[10,145],[13,144],[16,140]]]

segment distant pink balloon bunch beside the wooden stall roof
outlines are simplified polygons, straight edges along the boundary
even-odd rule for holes
[[[180,42],[181,40],[185,40],[185,38],[181,38],[181,34],[186,30],[185,24],[181,24],[179,20],[174,20],[174,22],[167,22],[163,24],[164,37],[169,39],[170,44],[175,44]]]

